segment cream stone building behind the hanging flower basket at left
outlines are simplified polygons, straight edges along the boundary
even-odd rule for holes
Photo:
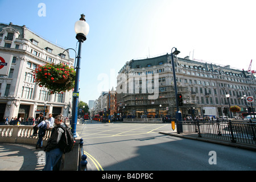
[[[5,117],[35,118],[44,108],[53,117],[69,116],[72,91],[49,95],[33,77],[38,65],[61,62],[73,66],[74,59],[64,51],[26,26],[0,23],[0,121]]]

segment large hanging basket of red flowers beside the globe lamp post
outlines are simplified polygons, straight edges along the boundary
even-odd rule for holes
[[[48,88],[49,94],[54,94],[73,89],[76,72],[65,64],[47,63],[39,65],[33,76],[40,87],[44,86]]]

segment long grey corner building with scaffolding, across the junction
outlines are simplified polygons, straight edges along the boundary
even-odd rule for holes
[[[247,71],[216,65],[189,57],[174,58],[177,93],[182,95],[179,106],[182,117],[225,115],[229,107],[226,94],[230,94],[230,105],[241,107],[246,113],[246,102],[241,97],[254,96],[255,77]],[[131,117],[175,118],[176,100],[171,55],[127,61],[117,76],[118,113]],[[254,106],[253,106],[254,107]],[[207,113],[204,113],[204,112]],[[233,115],[234,116],[234,115]]]

